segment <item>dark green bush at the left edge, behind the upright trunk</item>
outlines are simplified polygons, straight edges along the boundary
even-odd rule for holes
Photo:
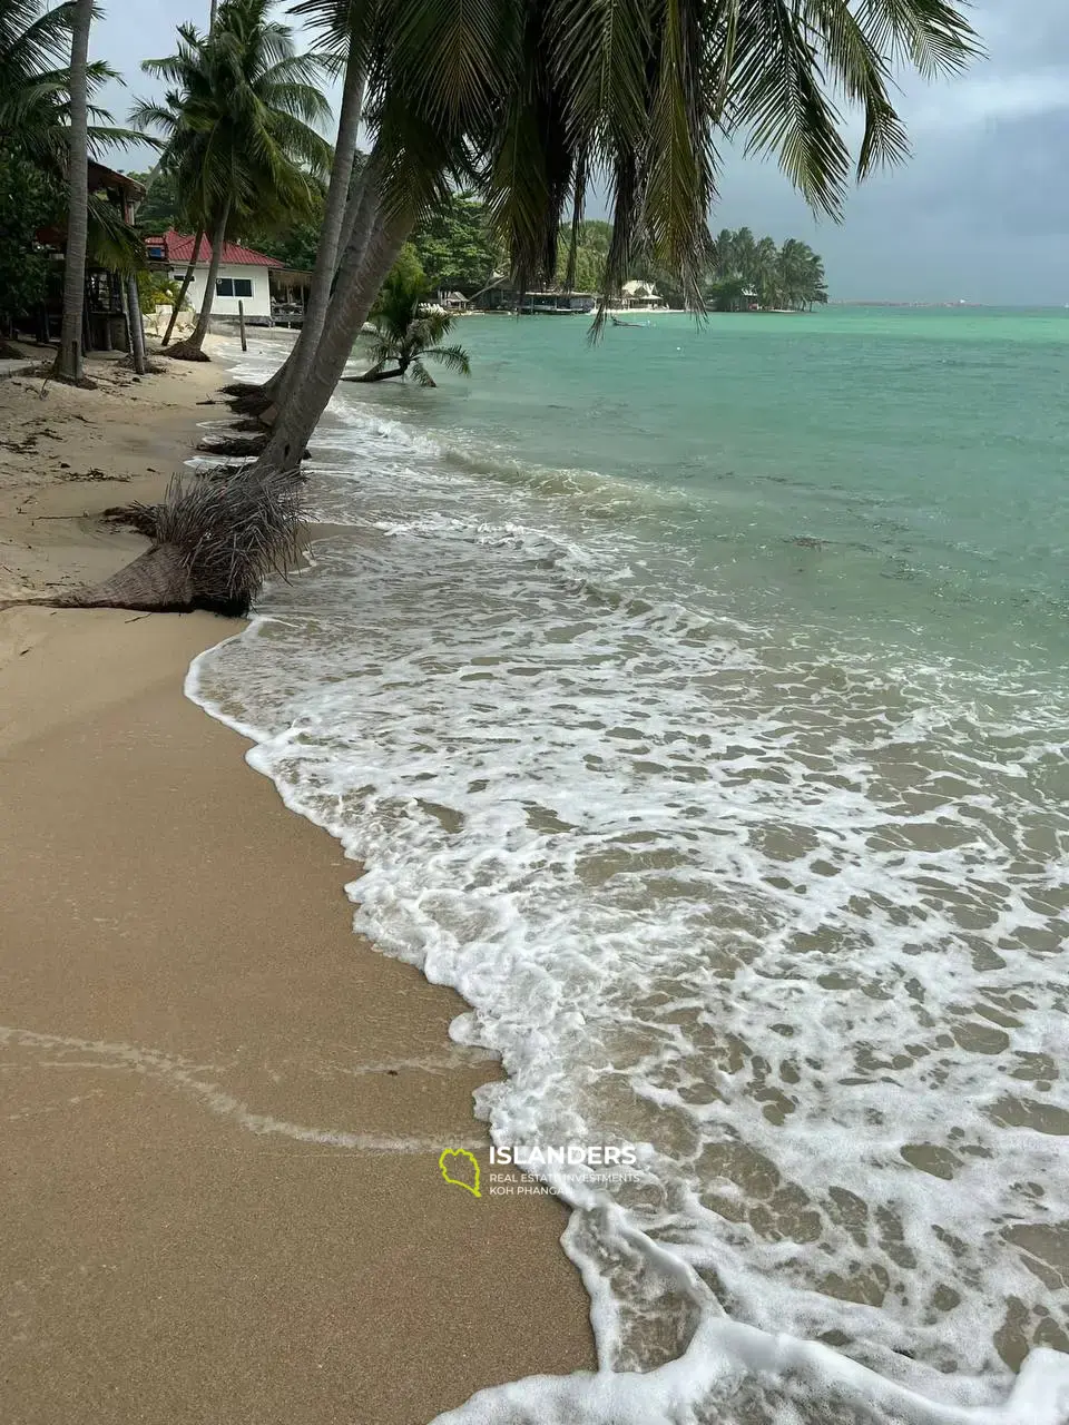
[[[44,298],[50,262],[34,239],[63,207],[58,180],[0,148],[0,328]]]

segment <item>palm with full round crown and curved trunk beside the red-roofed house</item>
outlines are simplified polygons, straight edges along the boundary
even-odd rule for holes
[[[178,53],[143,66],[172,88],[162,104],[138,104],[131,121],[167,135],[161,164],[197,231],[211,234],[197,326],[170,352],[180,359],[205,359],[227,237],[241,224],[311,212],[315,180],[331,170],[331,147],[312,127],[329,115],[316,88],[321,64],[296,53],[292,31],[269,19],[271,4],[222,0],[210,36],[182,26]]]

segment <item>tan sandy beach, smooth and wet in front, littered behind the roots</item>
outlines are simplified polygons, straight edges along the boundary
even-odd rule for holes
[[[224,379],[0,380],[0,598],[143,549],[98,514],[157,497]],[[182,695],[234,631],[0,613],[11,1425],[423,1425],[594,1364],[563,1208],[440,1180],[499,1072],[463,1003],[352,933],[352,862]]]

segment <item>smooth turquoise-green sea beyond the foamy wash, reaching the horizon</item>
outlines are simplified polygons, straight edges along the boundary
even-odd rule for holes
[[[594,349],[582,319],[466,321],[470,383],[373,409],[656,490],[747,604],[1065,651],[1069,312],[634,319]]]

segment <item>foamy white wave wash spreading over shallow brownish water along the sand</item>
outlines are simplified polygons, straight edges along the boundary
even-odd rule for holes
[[[1063,697],[743,624],[392,422],[319,449],[349,530],[190,694],[469,1002],[495,1141],[641,1144],[556,1178],[603,1374],[443,1419],[1065,1419]]]

